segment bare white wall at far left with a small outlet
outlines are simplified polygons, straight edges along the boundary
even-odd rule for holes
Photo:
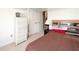
[[[0,47],[13,42],[13,39],[14,39],[13,9],[1,8],[0,9]]]

